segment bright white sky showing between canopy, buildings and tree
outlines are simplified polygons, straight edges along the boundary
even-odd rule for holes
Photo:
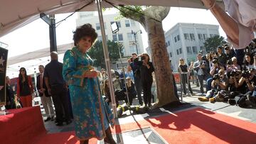
[[[105,11],[106,13],[114,13],[116,11]],[[63,18],[68,16],[68,14],[55,15],[55,21],[61,21]],[[62,45],[65,43],[73,43],[73,31],[75,31],[75,19],[77,18],[75,13],[73,16],[70,16],[66,21],[60,23],[56,28],[56,38],[57,45]],[[176,23],[205,23],[205,24],[214,24],[219,25],[215,17],[205,9],[187,9],[187,8],[176,8],[171,7],[169,15],[163,21],[164,31],[168,31],[170,28],[176,25]],[[144,49],[148,46],[147,43],[147,34],[142,29],[142,41]],[[221,27],[219,27],[220,35],[226,38],[226,35]],[[43,20],[38,19],[29,23],[22,28],[19,28],[16,31],[13,31],[7,35],[4,35],[0,38],[0,41],[9,45],[7,48],[9,50],[9,57],[14,57],[16,55],[21,55],[26,52],[31,52],[34,50],[39,50],[42,48],[48,48],[50,46],[49,42],[49,29],[48,24]],[[47,60],[41,62],[36,62],[36,65],[39,63],[45,63]],[[26,65],[19,64],[23,67]],[[7,74],[14,74],[18,70],[18,65],[12,65],[11,72]],[[9,69],[10,71],[10,69]]]

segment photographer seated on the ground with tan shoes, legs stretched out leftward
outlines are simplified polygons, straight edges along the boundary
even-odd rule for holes
[[[228,78],[225,77],[225,71],[219,70],[218,74],[213,75],[213,82],[211,83],[213,89],[206,93],[206,96],[198,97],[199,101],[215,101],[215,96],[220,90],[228,90]]]

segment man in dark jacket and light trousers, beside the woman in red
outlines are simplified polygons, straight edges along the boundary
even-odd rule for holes
[[[53,121],[54,120],[54,110],[53,110],[53,101],[46,87],[46,82],[43,77],[44,67],[39,65],[38,70],[40,74],[36,77],[36,89],[38,89],[39,96],[41,97],[41,102],[43,104],[43,109],[46,111],[47,118],[44,121]]]

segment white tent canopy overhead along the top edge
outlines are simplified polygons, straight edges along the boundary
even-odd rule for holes
[[[110,4],[134,6],[175,6],[205,9],[201,0],[102,0],[102,7]],[[223,6],[223,1],[218,0]],[[86,6],[87,5],[87,6]],[[0,37],[25,26],[39,18],[39,13],[57,14],[80,11],[97,11],[95,0],[1,0],[0,1]]]

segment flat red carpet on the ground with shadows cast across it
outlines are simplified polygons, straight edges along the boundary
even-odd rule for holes
[[[113,133],[154,128],[168,143],[256,143],[256,124],[205,109],[191,109],[149,118],[137,123],[115,126]],[[74,132],[55,133],[43,138],[43,143],[78,143]],[[97,143],[90,140],[90,143]],[[124,142],[129,143],[129,142]]]

